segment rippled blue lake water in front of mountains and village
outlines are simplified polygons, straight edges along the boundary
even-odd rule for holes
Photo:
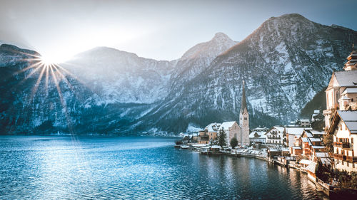
[[[306,174],[167,137],[0,136],[0,199],[324,199]]]

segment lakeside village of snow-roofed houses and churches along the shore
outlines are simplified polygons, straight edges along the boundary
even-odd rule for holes
[[[239,122],[213,122],[181,134],[175,147],[201,154],[254,157],[308,174],[325,194],[357,194],[357,51],[342,71],[334,71],[326,110],[289,125],[249,127],[244,82]],[[355,196],[356,197],[356,196]]]

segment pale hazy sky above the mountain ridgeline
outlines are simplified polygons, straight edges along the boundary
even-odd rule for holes
[[[0,0],[0,41],[54,62],[96,46],[174,60],[226,33],[242,41],[271,16],[297,13],[357,31],[356,0]]]

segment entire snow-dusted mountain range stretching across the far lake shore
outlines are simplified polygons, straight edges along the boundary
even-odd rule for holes
[[[239,43],[216,33],[173,61],[99,47],[61,64],[68,70],[59,70],[63,75],[54,70],[61,95],[53,76],[37,82],[41,69],[16,73],[38,53],[2,45],[0,134],[177,133],[238,121],[242,80],[251,127],[278,125],[298,116],[356,42],[356,31],[287,14],[268,19]]]

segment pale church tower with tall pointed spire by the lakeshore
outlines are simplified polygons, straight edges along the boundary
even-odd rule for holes
[[[241,138],[237,138],[241,145],[249,145],[249,113],[246,107],[246,91],[242,90],[242,105],[241,112],[239,113],[239,126],[241,127]]]

